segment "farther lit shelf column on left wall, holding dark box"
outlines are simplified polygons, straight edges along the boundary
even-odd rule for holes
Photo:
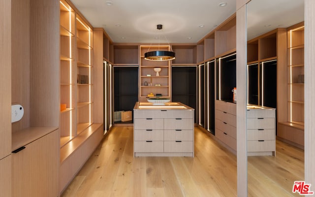
[[[76,16],[77,134],[93,124],[93,31]]]

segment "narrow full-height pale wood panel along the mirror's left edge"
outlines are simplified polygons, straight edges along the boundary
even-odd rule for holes
[[[241,0],[239,0],[241,1]],[[247,24],[246,5],[236,12],[237,196],[247,197]]]

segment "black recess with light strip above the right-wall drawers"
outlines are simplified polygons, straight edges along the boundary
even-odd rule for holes
[[[236,54],[217,59],[217,99],[233,102],[236,87]]]

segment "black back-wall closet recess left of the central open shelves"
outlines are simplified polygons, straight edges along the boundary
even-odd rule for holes
[[[138,67],[114,67],[114,111],[133,111],[137,101]]]

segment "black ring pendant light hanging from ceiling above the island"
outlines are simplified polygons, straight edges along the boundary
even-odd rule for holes
[[[161,30],[163,28],[162,25],[157,25],[157,29]],[[158,37],[159,38],[159,37]],[[166,36],[165,39],[167,40]],[[159,40],[158,40],[159,43]],[[167,41],[168,43],[168,41]],[[169,43],[168,43],[169,45]],[[150,48],[149,48],[150,50]],[[174,60],[175,59],[175,53],[173,51],[149,51],[144,54],[145,60],[150,61],[168,61],[168,60]]]

